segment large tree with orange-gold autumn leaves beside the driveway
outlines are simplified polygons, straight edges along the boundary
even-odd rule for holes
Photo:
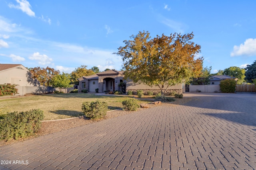
[[[174,33],[151,39],[148,31],[140,31],[114,54],[122,57],[124,78],[158,86],[163,95],[171,86],[201,74],[203,59],[194,59],[201,47],[191,41],[193,37],[193,33]]]

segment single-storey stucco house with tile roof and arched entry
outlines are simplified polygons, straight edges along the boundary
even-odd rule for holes
[[[81,92],[83,89],[87,89],[89,92],[95,92],[95,89],[98,88],[100,93],[104,92],[105,90],[114,92],[115,90],[120,90],[118,88],[118,84],[120,82],[126,82],[126,80],[123,80],[123,78],[123,71],[117,70],[107,70],[91,76],[83,76],[78,78],[78,91]],[[177,84],[176,86],[172,86],[169,90],[167,90],[167,92],[176,91],[177,93],[182,93],[184,92],[182,89],[182,84]],[[134,83],[132,80],[127,80],[126,82],[126,91],[128,90],[133,92],[143,90],[144,93],[148,91],[152,91],[154,93],[160,92],[160,88],[158,86],[150,87],[144,84]]]

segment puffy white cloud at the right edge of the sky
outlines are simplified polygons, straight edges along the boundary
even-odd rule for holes
[[[256,55],[256,39],[249,38],[245,40],[244,44],[240,44],[240,46],[235,45],[230,56],[234,57],[239,55]]]

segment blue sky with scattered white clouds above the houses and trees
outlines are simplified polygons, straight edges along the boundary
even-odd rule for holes
[[[0,0],[0,63],[120,70],[112,53],[139,31],[194,33],[212,73],[256,60],[255,0]]]

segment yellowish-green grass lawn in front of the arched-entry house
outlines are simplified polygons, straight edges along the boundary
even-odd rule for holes
[[[109,110],[114,110],[123,108],[122,101],[128,97],[130,96],[96,96],[86,93],[68,93],[10,98],[0,100],[0,115],[13,111],[41,109],[44,111],[44,120],[64,119],[84,115],[81,109],[83,102],[99,99],[107,102]],[[138,103],[148,102],[140,100]]]

